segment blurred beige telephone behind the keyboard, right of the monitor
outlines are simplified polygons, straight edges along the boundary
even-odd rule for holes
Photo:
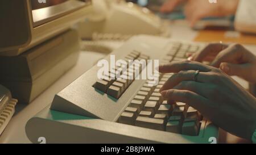
[[[169,36],[164,22],[145,7],[121,0],[93,0],[94,13],[79,24],[82,39],[126,40],[138,34]]]

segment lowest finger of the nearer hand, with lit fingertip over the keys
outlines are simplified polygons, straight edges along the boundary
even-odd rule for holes
[[[187,103],[199,111],[205,110],[209,103],[208,99],[188,90],[170,89],[162,91],[161,94],[164,98],[175,100],[175,102]]]

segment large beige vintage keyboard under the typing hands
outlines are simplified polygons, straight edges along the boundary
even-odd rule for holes
[[[204,44],[155,36],[136,36],[110,55],[115,59],[186,60]],[[110,60],[110,56],[105,58]],[[110,61],[109,61],[110,62]],[[130,66],[128,66],[130,68]],[[218,128],[195,108],[168,104],[159,93],[172,73],[158,74],[158,85],[147,79],[98,79],[99,67],[84,73],[55,95],[50,107],[26,125],[28,138],[40,135],[49,143],[210,143]],[[135,69],[142,72],[138,65]],[[116,69],[118,71],[118,68]],[[129,75],[128,70],[120,72]],[[110,74],[111,76],[111,74]]]

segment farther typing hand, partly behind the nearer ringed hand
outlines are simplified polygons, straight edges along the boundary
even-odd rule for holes
[[[210,61],[229,76],[239,76],[246,81],[256,83],[256,56],[240,44],[209,44],[202,51],[195,53],[193,61]]]

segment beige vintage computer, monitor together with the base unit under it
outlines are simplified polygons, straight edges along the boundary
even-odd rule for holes
[[[79,37],[71,26],[91,10],[89,0],[0,2],[0,83],[19,103],[30,103],[76,64]]]

